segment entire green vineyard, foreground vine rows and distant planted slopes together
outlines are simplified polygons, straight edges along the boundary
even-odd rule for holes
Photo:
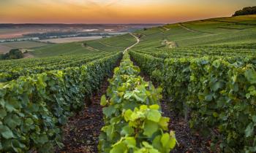
[[[255,22],[176,23],[1,60],[0,152],[256,152]]]

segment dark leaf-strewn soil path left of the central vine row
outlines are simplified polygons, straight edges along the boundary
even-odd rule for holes
[[[99,133],[103,122],[100,98],[108,88],[107,78],[99,92],[91,98],[91,106],[87,106],[80,114],[69,118],[64,127],[64,148],[56,149],[61,153],[94,153],[97,152]]]

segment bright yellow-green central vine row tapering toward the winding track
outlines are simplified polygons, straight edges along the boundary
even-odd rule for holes
[[[162,117],[159,99],[161,89],[154,88],[138,76],[129,55],[114,70],[109,80],[107,99],[101,104],[105,126],[99,136],[99,152],[170,152],[176,145],[173,131],[166,133],[169,118]]]

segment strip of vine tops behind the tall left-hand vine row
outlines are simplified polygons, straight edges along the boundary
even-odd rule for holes
[[[7,82],[12,79],[17,79],[19,76],[39,74],[50,70],[61,70],[67,67],[81,66],[93,60],[110,55],[113,55],[113,52],[52,58],[32,58],[29,60],[8,60],[8,62],[2,62],[2,66],[0,68],[0,82]]]

